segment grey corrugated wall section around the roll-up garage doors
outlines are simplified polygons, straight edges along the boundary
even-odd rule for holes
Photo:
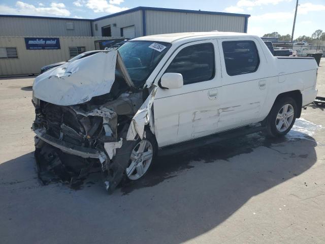
[[[98,30],[95,29],[95,24],[98,25]],[[142,27],[142,11],[135,11],[132,13],[127,13],[123,15],[118,15],[106,19],[95,20],[92,22],[92,32],[94,37],[102,36],[102,27],[106,25],[111,25],[112,37],[121,36],[121,28],[135,25],[136,37],[143,36]],[[113,26],[116,24],[116,26]]]

